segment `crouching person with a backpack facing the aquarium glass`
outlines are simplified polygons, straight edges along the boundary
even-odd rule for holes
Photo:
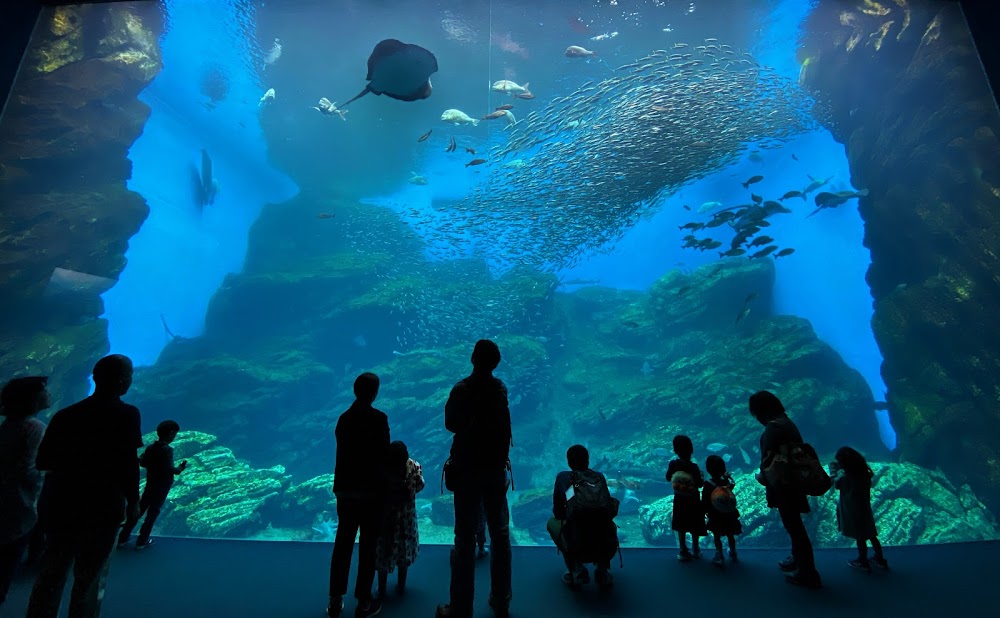
[[[604,475],[590,469],[590,453],[580,444],[566,451],[569,470],[556,475],[552,492],[552,518],[546,528],[566,562],[563,582],[579,586],[590,582],[586,563],[596,563],[594,581],[614,583],[611,558],[618,551],[614,518],[618,500],[611,496]]]

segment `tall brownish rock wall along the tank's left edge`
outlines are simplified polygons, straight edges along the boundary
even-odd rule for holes
[[[87,393],[108,350],[98,294],[149,212],[125,181],[162,16],[155,3],[46,15],[0,124],[0,373],[50,376],[56,408]]]

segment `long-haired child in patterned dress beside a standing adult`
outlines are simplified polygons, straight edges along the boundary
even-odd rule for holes
[[[406,444],[398,440],[390,444],[388,458],[388,508],[382,534],[375,546],[380,599],[385,598],[389,573],[397,567],[396,591],[402,594],[406,589],[407,570],[420,553],[417,494],[424,488],[424,473],[420,464],[410,459]]]

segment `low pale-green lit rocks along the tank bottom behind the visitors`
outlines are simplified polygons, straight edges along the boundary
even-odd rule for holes
[[[145,436],[146,442],[156,439]],[[177,477],[157,520],[163,534],[225,538],[295,539],[332,542],[336,534],[336,500],[332,474],[294,484],[283,466],[256,469],[217,445],[215,436],[181,432],[174,442],[177,461],[188,468]],[[914,464],[874,463],[872,502],[879,536],[887,545],[948,543],[1000,538],[1000,525],[967,485],[955,487],[941,472]],[[427,479],[418,499],[424,542],[451,543],[454,511],[450,495],[438,495]],[[624,498],[618,517],[622,541],[634,546],[673,546],[670,530],[672,497],[663,482],[644,483],[611,478],[612,491]],[[628,486],[626,488],[625,486]],[[741,544],[783,547],[787,536],[767,508],[763,488],[750,473],[736,475],[736,492],[744,525]],[[836,529],[836,494],[811,499],[806,525],[815,542],[849,547]],[[548,544],[545,522],[551,516],[548,487],[517,490],[511,495],[515,543]]]

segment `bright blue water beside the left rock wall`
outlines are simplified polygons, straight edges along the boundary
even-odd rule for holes
[[[175,335],[203,332],[212,295],[243,267],[247,232],[263,206],[298,192],[267,160],[256,105],[262,91],[248,62],[252,15],[229,2],[170,0],[165,6],[163,70],[139,97],[152,111],[129,151],[128,188],[146,199],[150,215],[129,241],[119,283],[104,295],[112,350],[140,366],[155,362],[170,340],[161,315]],[[199,90],[208,63],[230,82],[214,110]],[[219,182],[215,203],[204,212],[193,189],[203,148]]]

